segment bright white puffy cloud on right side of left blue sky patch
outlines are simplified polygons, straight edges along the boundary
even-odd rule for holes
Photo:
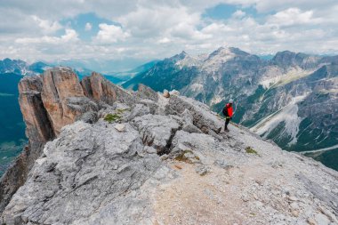
[[[95,37],[95,40],[101,44],[111,44],[117,41],[125,41],[130,36],[128,31],[124,31],[121,27],[101,23],[100,31]]]

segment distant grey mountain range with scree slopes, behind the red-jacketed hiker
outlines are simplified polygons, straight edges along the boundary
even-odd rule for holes
[[[181,52],[123,86],[138,84],[176,89],[216,112],[234,99],[234,122],[338,170],[338,56],[285,51],[264,60],[232,47]]]

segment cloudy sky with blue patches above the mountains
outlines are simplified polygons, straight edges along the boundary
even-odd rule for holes
[[[148,61],[235,46],[338,53],[337,0],[1,0],[0,59]]]

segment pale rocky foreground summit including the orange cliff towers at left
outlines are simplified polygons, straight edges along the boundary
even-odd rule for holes
[[[20,81],[28,146],[3,224],[338,224],[338,173],[205,104],[52,68]]]

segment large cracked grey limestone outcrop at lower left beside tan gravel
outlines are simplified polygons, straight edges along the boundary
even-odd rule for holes
[[[4,221],[125,224],[129,218],[128,224],[142,223],[151,208],[140,187],[157,172],[160,160],[151,154],[138,157],[139,133],[130,125],[126,131],[83,122],[66,126],[45,146],[44,162],[33,167],[26,185],[6,207]],[[143,210],[136,210],[140,207]]]

